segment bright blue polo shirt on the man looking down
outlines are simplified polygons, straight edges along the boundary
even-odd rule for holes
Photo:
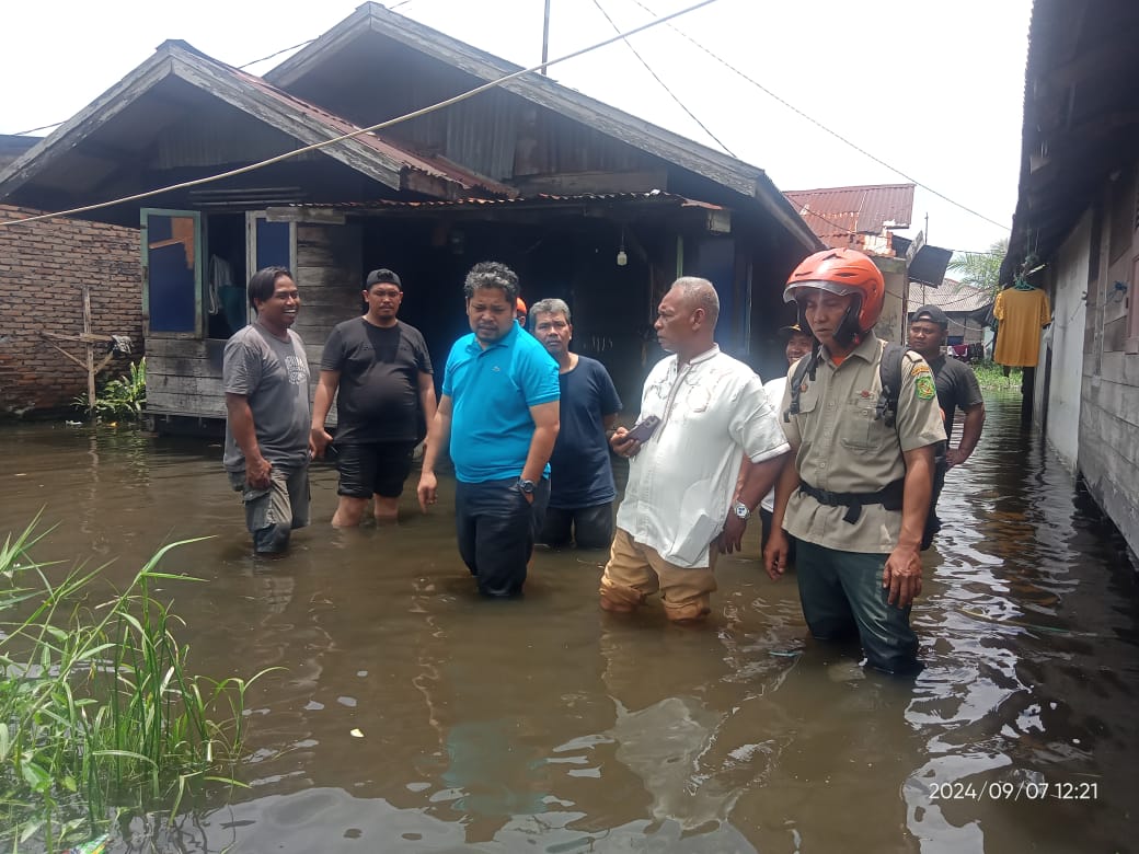
[[[456,477],[465,483],[517,478],[534,435],[530,408],[560,396],[558,363],[517,323],[486,350],[472,332],[451,347],[443,394],[452,403]],[[547,463],[543,474],[549,473]]]

